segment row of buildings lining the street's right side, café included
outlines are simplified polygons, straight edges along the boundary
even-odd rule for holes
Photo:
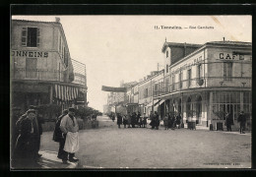
[[[238,129],[238,114],[244,111],[251,129],[252,44],[239,41],[213,41],[203,45],[164,42],[164,69],[152,72],[127,90],[127,112],[158,111],[181,114],[184,124],[224,125],[225,113]],[[138,89],[138,99],[134,99]],[[136,92],[137,93],[137,92]],[[138,100],[138,101],[137,101]]]

